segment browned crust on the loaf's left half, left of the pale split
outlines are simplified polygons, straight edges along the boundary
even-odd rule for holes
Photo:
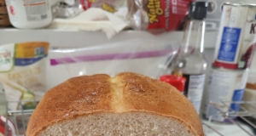
[[[45,127],[94,111],[112,111],[107,75],[75,77],[50,89],[33,112],[26,134],[37,135]]]

